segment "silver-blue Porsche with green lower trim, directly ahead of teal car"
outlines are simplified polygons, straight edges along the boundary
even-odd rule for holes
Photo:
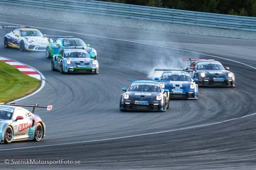
[[[82,48],[64,48],[59,54],[53,55],[51,60],[52,70],[59,70],[63,73],[92,73],[98,74],[99,64],[92,59]]]

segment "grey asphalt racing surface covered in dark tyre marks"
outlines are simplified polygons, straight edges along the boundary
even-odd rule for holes
[[[97,50],[99,74],[61,75],[51,71],[45,53],[6,49],[0,41],[0,56],[26,63],[46,78],[40,92],[17,103],[53,105],[49,112],[36,110],[46,124],[46,137],[40,142],[1,144],[0,168],[256,168],[256,77],[255,69],[244,65],[256,67],[256,41],[11,16],[0,16],[0,25],[7,25],[1,22],[83,39]],[[5,33],[0,30],[0,37]],[[156,67],[189,64],[179,58],[214,58],[189,51],[221,57],[216,59],[234,72],[237,86],[200,88],[198,100],[173,100],[165,113],[119,111],[121,88],[129,86],[129,78],[153,78]],[[5,159],[81,164],[14,165],[5,164]]]

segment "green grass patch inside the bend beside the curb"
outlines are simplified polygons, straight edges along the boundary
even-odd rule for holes
[[[40,81],[23,74],[15,67],[0,62],[0,102],[11,102],[34,92]]]

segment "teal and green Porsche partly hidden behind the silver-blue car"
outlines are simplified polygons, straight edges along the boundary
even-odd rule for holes
[[[48,36],[59,37],[59,36]],[[57,40],[48,44],[46,49],[46,58],[51,58],[53,55],[59,54],[60,50],[70,47],[83,47],[84,50],[90,55],[91,58],[97,59],[97,52],[94,48],[89,47],[90,44],[86,44],[79,38],[73,38],[71,36],[63,36]]]

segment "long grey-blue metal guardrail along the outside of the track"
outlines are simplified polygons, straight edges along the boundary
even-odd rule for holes
[[[0,4],[119,16],[222,29],[256,31],[256,17],[145,7],[90,0],[0,0]]]

